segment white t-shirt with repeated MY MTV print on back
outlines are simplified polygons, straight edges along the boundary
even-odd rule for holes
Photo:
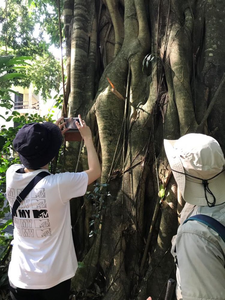
[[[21,189],[40,172],[16,173],[14,164],[6,172],[6,194],[12,208]],[[46,170],[46,172],[48,172]],[[88,175],[51,174],[39,181],[23,200],[14,216],[14,242],[9,279],[22,289],[48,289],[74,276],[77,269],[73,246],[70,203],[83,196]]]

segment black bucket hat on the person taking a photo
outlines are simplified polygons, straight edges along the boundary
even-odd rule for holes
[[[24,167],[35,170],[44,167],[58,154],[61,143],[62,134],[57,125],[34,122],[19,129],[13,147]]]

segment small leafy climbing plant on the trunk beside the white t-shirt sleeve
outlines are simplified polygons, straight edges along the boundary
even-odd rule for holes
[[[89,232],[89,238],[93,235],[97,234],[98,231],[98,225],[100,222],[100,217],[102,210],[106,208],[105,206],[105,197],[111,196],[111,194],[107,191],[110,184],[108,183],[96,183],[94,185],[95,189],[93,193],[86,192],[87,198],[91,200],[93,205],[94,214],[92,214],[92,220],[89,222],[89,227],[91,228],[91,231]]]

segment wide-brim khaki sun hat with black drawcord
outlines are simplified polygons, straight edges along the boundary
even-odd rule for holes
[[[208,202],[205,197],[202,180],[208,179],[208,189],[216,199],[215,205],[225,202],[225,172],[222,172],[225,160],[215,139],[204,134],[187,134],[179,140],[164,140],[164,148],[186,202],[200,206],[213,203],[214,198],[207,191]]]

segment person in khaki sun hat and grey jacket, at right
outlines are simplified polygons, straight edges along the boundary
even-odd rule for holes
[[[203,134],[164,140],[164,147],[179,191],[187,202],[172,240],[177,299],[225,300],[225,237],[209,223],[193,217],[212,217],[225,229],[223,152],[215,139]]]

